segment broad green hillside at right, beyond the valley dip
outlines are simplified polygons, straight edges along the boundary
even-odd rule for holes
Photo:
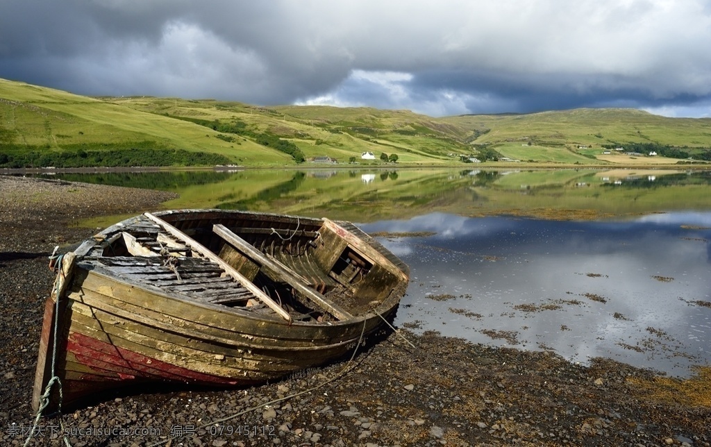
[[[626,146],[630,149],[630,144],[656,144],[683,148],[690,156],[699,158],[711,149],[711,119],[667,118],[635,109],[464,115],[443,120],[481,132],[474,144],[490,146],[504,156],[524,160],[549,158],[551,155],[540,151],[542,148],[623,164],[636,163],[624,156],[626,151],[603,154],[604,151],[615,147],[625,149]],[[577,157],[559,155],[555,161],[572,161],[574,158]],[[658,159],[651,158],[646,162],[659,163]],[[674,163],[673,160],[664,162]]]

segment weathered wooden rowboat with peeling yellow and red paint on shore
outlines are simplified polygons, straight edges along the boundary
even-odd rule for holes
[[[132,217],[56,268],[35,409],[59,403],[53,377],[66,405],[127,384],[224,387],[322,365],[383,324],[409,275],[351,223],[225,210]]]

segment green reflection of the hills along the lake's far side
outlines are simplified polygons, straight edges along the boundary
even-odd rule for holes
[[[711,171],[250,169],[55,173],[53,178],[178,193],[181,197],[166,208],[287,212],[360,222],[433,211],[597,219],[711,210]]]

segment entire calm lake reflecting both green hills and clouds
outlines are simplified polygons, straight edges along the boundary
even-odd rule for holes
[[[711,172],[359,169],[62,174],[171,190],[166,208],[351,220],[410,265],[397,325],[609,357],[711,363]],[[89,222],[107,226],[118,217]]]

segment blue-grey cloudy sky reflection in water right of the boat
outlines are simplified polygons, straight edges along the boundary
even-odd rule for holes
[[[363,228],[436,232],[381,237],[412,269],[399,325],[674,375],[711,362],[711,212],[614,222],[432,213]]]

